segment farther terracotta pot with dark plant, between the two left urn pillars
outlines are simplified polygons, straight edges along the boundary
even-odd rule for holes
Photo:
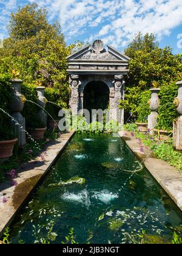
[[[27,120],[29,127],[29,134],[34,140],[42,140],[47,127],[44,122],[41,121],[37,116],[32,116]]]

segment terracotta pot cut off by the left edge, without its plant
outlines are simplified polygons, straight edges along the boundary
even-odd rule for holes
[[[0,159],[8,159],[13,155],[13,149],[18,141],[17,138],[14,140],[0,141]]]

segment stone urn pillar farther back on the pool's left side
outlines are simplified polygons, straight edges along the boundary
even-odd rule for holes
[[[46,98],[44,97],[45,87],[36,87],[36,90],[38,94],[38,104],[42,108],[45,108],[45,105],[46,105]],[[38,112],[38,117],[45,124],[45,126],[47,126],[47,113],[45,113],[45,111],[42,108],[40,108]]]

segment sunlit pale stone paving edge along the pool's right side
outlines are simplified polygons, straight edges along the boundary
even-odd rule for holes
[[[120,131],[118,135],[182,211],[182,172],[166,161],[155,157],[150,148],[139,144],[138,139],[130,132]],[[143,152],[140,150],[141,146],[144,148]]]

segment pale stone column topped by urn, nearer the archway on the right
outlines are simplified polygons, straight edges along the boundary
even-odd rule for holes
[[[150,89],[152,96],[149,101],[151,113],[148,116],[148,129],[150,129],[150,134],[153,135],[153,129],[157,124],[157,110],[160,106],[160,99],[158,98],[158,93],[160,92],[160,88],[152,88]]]

